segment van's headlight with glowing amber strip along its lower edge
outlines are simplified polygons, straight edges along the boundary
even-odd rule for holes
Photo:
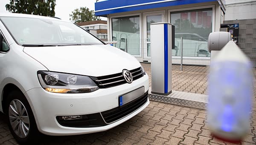
[[[55,93],[89,93],[99,87],[87,76],[64,74],[51,71],[38,71],[41,86]]]

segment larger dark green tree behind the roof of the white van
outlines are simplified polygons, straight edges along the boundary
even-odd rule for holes
[[[35,14],[41,16],[55,16],[56,0],[10,0],[6,10],[12,13]]]

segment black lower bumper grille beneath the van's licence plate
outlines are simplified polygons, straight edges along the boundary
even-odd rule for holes
[[[138,108],[143,106],[147,102],[147,100],[148,100],[148,92],[143,96],[138,97],[137,99],[131,102],[128,102],[125,105],[113,108],[108,111],[101,112],[102,117],[107,123],[117,121],[131,114],[132,112],[136,111]]]

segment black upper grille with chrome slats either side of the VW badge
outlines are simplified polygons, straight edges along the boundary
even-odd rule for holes
[[[132,74],[133,80],[137,80],[144,75],[142,67],[129,71]],[[110,88],[127,83],[122,75],[122,72],[102,77],[91,77],[91,79],[99,86],[99,88]]]

